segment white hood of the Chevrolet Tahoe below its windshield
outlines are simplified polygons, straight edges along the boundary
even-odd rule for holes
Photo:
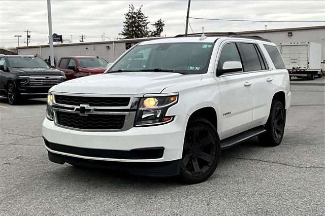
[[[201,74],[181,75],[166,72],[123,72],[99,74],[69,80],[53,86],[53,92],[84,94],[150,94],[190,81],[200,81]]]

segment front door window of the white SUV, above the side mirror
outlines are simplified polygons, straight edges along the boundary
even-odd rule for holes
[[[222,71],[223,63],[226,61],[240,61],[239,52],[235,43],[229,43],[222,47],[217,70]]]

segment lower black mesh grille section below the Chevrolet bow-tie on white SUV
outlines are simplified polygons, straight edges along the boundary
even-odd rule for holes
[[[122,129],[125,115],[89,114],[80,116],[76,113],[56,112],[58,125],[85,130],[112,130]]]

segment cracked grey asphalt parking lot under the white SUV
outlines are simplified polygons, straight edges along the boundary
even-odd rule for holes
[[[325,214],[325,79],[291,81],[282,144],[224,150],[206,182],[59,165],[47,158],[46,100],[0,99],[0,214]]]

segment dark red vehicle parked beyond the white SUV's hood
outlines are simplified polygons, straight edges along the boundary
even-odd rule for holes
[[[104,73],[108,62],[100,57],[72,56],[59,59],[56,68],[66,74],[67,80]]]

